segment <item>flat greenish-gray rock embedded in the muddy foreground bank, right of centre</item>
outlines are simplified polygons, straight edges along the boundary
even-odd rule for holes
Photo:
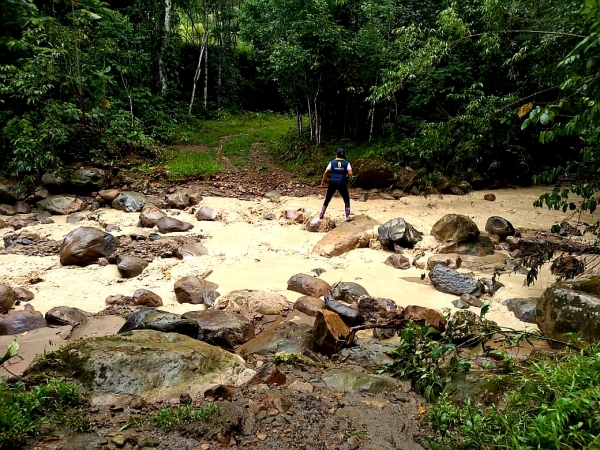
[[[334,392],[379,394],[397,389],[393,378],[370,375],[350,369],[333,369],[323,375],[323,381]]]

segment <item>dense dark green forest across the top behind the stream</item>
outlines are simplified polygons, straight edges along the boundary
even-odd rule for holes
[[[599,17],[597,0],[4,0],[1,167],[33,181],[271,110],[306,145],[395,165],[594,171]]]

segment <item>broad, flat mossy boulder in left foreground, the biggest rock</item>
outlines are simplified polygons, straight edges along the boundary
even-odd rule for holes
[[[86,339],[65,349],[64,371],[90,389],[96,404],[120,397],[172,401],[200,397],[215,384],[238,386],[254,374],[244,360],[176,333],[140,330]]]

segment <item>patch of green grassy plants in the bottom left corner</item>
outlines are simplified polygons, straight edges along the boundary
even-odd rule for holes
[[[87,422],[78,383],[49,379],[36,386],[0,383],[0,447],[17,448],[58,426],[83,431]]]

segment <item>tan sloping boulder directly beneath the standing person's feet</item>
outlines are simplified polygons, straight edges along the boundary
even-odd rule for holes
[[[379,222],[369,216],[355,216],[352,222],[344,222],[327,233],[313,248],[319,256],[331,258],[343,255],[355,248],[364,248],[375,237],[374,228]]]

